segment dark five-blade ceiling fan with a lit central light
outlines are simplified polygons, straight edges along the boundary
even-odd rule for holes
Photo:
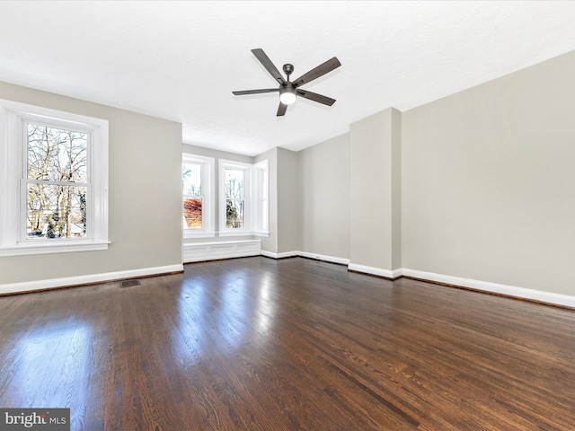
[[[307,90],[302,90],[299,88],[303,84],[307,84],[320,76],[323,76],[333,69],[341,66],[340,60],[333,57],[326,62],[322,63],[320,66],[314,67],[312,70],[304,75],[301,75],[296,81],[290,82],[289,75],[294,71],[293,65],[284,65],[283,71],[286,74],[286,78],[279,73],[279,70],[270,60],[270,57],[263,52],[263,49],[257,48],[252,49],[253,55],[260,60],[260,63],[266,68],[270,75],[273,76],[276,81],[279,82],[278,88],[266,88],[261,90],[245,90],[242,92],[233,92],[236,96],[243,96],[245,94],[260,94],[262,92],[279,92],[279,108],[278,117],[285,115],[288,105],[296,101],[296,96],[301,96],[310,101],[317,101],[323,103],[324,105],[332,106],[335,103],[335,99],[331,97],[323,96],[322,94],[317,94],[316,92],[308,92]]]

